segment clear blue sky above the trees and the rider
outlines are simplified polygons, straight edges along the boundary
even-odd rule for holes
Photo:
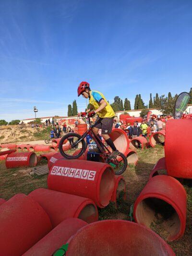
[[[66,115],[81,81],[112,101],[192,87],[191,0],[1,0],[0,119]]]

